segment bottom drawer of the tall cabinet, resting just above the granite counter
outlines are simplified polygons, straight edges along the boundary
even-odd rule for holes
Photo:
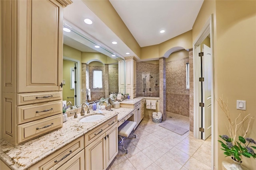
[[[28,141],[62,127],[62,113],[18,125],[18,143]]]

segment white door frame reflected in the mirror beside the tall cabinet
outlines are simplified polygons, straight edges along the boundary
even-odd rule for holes
[[[78,105],[81,105],[81,77],[80,77],[80,74],[81,74],[81,68],[80,68],[80,61],[79,60],[76,60],[76,59],[72,59],[72,58],[69,58],[69,57],[65,57],[63,56],[63,60],[68,60],[68,61],[73,61],[76,64],[76,70],[77,70],[77,74],[76,74],[76,81],[78,82],[76,85],[77,85],[77,88],[76,88],[76,98],[77,98],[77,106]],[[79,81],[78,81],[79,80]]]

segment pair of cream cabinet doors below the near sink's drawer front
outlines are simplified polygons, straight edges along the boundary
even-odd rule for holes
[[[85,147],[86,170],[105,170],[118,153],[118,123]]]

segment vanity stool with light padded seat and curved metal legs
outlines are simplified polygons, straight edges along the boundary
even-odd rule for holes
[[[133,133],[133,129],[136,125],[137,123],[135,121],[127,120],[118,127],[118,137],[120,137],[121,139],[118,142],[118,145],[123,146],[123,149],[124,149],[124,145],[122,143],[124,142],[125,137],[129,137],[129,135],[132,133],[132,135],[134,135],[134,137],[136,138],[136,135]],[[126,151],[126,154],[128,154],[128,150],[127,149],[124,149],[124,150]]]

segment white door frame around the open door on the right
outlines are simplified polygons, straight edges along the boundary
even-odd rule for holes
[[[204,27],[202,27],[200,33],[198,34],[198,36],[196,37],[195,41],[193,42],[193,66],[194,66],[194,70],[193,70],[193,74],[194,74],[194,137],[196,139],[202,139],[202,135],[199,131],[199,127],[201,124],[201,115],[200,115],[200,107],[199,107],[199,99],[200,99],[200,90],[201,90],[201,86],[200,86],[200,82],[199,82],[199,78],[201,76],[201,61],[200,59],[197,57],[198,53],[200,53],[201,51],[197,51],[197,46],[200,45],[204,39],[210,34],[210,46],[211,46],[211,53],[212,53],[212,57],[211,57],[211,62],[212,62],[212,129],[211,129],[211,151],[212,151],[212,169],[214,169],[214,148],[215,148],[215,135],[214,135],[214,128],[215,128],[215,120],[214,120],[214,109],[215,109],[215,96],[214,96],[214,53],[213,53],[213,14],[211,14],[211,16],[208,18],[208,20],[206,21]]]

